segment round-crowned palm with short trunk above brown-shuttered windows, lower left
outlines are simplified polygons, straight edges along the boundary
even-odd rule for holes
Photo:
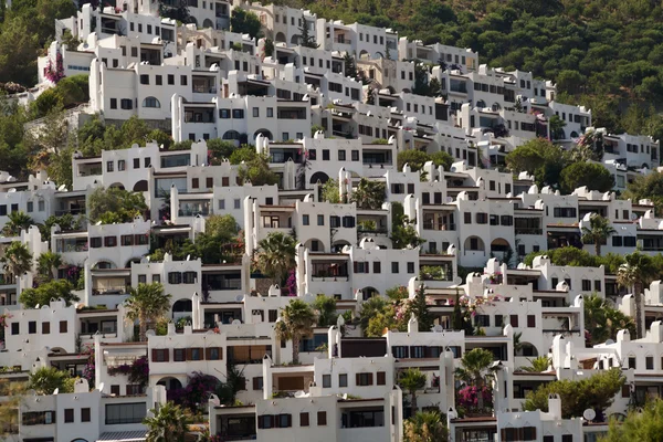
[[[170,295],[164,293],[160,283],[138,284],[138,287],[131,287],[129,297],[125,301],[126,316],[130,320],[138,319],[140,341],[147,340],[147,325],[156,323],[168,313],[170,298]]]

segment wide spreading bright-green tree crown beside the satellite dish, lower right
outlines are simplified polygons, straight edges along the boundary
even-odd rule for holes
[[[561,399],[561,418],[580,418],[588,408],[601,414],[621,391],[625,378],[621,370],[600,371],[590,378],[581,380],[557,380],[541,385],[535,391],[528,392],[523,410],[548,411],[548,396],[559,394]]]

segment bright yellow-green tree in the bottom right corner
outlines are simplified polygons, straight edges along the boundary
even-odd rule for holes
[[[645,403],[641,410],[632,410],[622,422],[610,421],[608,434],[601,442],[657,442],[663,440],[663,400]]]

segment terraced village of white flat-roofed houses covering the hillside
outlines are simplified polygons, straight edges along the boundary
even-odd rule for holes
[[[71,183],[0,172],[4,440],[150,440],[178,404],[203,441],[592,442],[661,394],[663,219],[623,197],[657,139],[470,49],[159,4],[57,20],[9,97],[84,75],[70,130],[171,139],[76,150]],[[514,170],[523,147],[582,166]]]

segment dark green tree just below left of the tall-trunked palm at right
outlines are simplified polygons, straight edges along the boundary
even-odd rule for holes
[[[627,329],[636,335],[633,318],[614,308],[607,299],[592,294],[583,298],[585,330],[589,333],[589,345],[603,344],[617,339],[619,330]]]

